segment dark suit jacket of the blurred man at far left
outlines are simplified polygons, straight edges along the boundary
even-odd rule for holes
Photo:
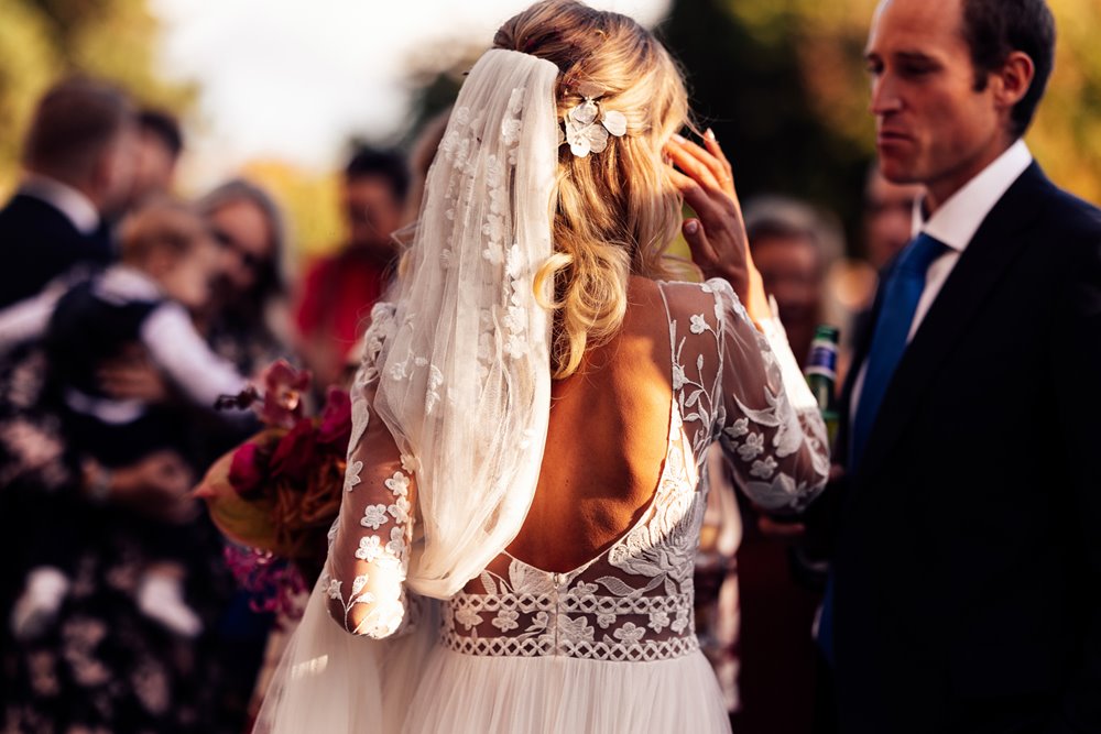
[[[106,228],[81,234],[52,205],[17,194],[0,210],[0,308],[39,293],[74,265],[112,259]]]

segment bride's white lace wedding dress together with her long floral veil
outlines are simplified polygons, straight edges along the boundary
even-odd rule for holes
[[[422,212],[414,276],[372,314],[328,562],[258,731],[729,728],[693,623],[707,448],[720,441],[739,485],[772,510],[805,506],[829,469],[816,403],[774,319],[759,331],[721,280],[659,284],[669,412],[653,499],[571,571],[504,550],[534,494],[549,412],[548,330],[531,278],[550,252],[553,179],[525,176],[553,172],[554,158],[525,160],[555,150],[556,73],[497,51],[464,86],[429,176],[439,196]],[[449,292],[464,272],[477,275]]]

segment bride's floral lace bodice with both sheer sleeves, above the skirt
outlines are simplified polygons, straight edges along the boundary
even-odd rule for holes
[[[757,330],[724,281],[661,291],[672,399],[665,463],[650,505],[604,552],[567,573],[502,551],[444,602],[440,635],[451,649],[603,660],[691,651],[707,447],[720,441],[739,486],[770,510],[798,511],[825,485],[825,426],[778,325]],[[414,537],[416,462],[397,457],[392,442],[388,457],[364,438],[372,430],[363,427],[370,392],[358,386],[347,493],[323,583],[334,616],[382,637],[400,627],[408,607],[402,580]]]

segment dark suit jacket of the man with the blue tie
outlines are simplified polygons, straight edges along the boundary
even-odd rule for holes
[[[838,502],[842,732],[1101,732],[1099,383],[1101,211],[1033,163],[914,335]]]

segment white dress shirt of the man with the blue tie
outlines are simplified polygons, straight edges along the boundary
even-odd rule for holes
[[[925,232],[935,240],[944,242],[948,247],[948,251],[934,260],[925,272],[925,288],[917,302],[914,320],[909,325],[907,344],[917,333],[917,328],[925,319],[925,315],[929,313],[929,307],[933,306],[940,288],[944,287],[952,269],[956,267],[956,263],[959,262],[960,255],[974,238],[974,233],[979,231],[979,227],[986,219],[986,215],[1001,200],[1010,186],[1021,177],[1025,168],[1032,164],[1032,160],[1028,146],[1023,140],[1018,140],[983,168],[979,175],[952,194],[928,219],[925,219],[923,215],[922,202],[914,204],[914,237],[917,237],[919,232]],[[860,404],[860,394],[863,392],[866,373],[868,360],[864,360],[852,386],[849,415],[853,420],[857,417],[857,406]]]

